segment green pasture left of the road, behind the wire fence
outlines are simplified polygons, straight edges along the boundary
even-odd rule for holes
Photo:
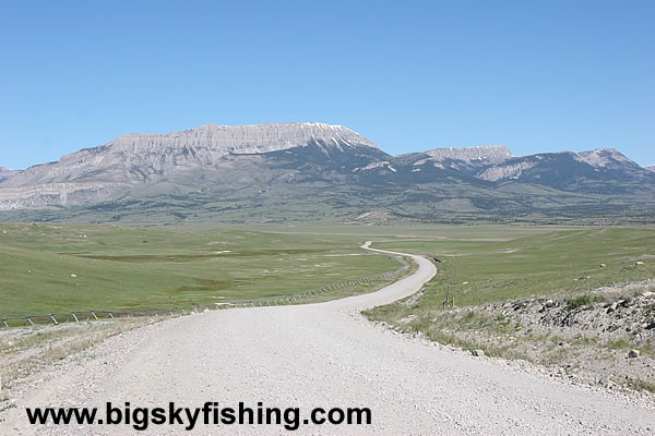
[[[400,266],[359,235],[262,230],[3,223],[0,316],[290,295]]]

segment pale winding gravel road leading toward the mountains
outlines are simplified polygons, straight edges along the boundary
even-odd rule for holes
[[[368,243],[366,244],[368,247]],[[372,249],[370,249],[372,250]],[[647,400],[549,378],[373,326],[359,311],[409,295],[436,272],[321,304],[209,312],[114,337],[21,392],[0,434],[136,434],[123,426],[29,426],[25,407],[367,407],[371,425],[300,426],[297,434],[654,434]],[[305,413],[302,413],[305,412]],[[183,434],[151,425],[145,434]],[[285,434],[276,425],[198,425],[190,434]],[[142,433],[143,434],[143,433]]]

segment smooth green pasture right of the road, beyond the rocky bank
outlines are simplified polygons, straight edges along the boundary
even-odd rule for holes
[[[653,229],[498,227],[473,228],[466,235],[463,230],[373,246],[443,261],[421,301],[427,306],[442,304],[449,283],[449,299],[454,298],[456,305],[475,305],[528,295],[583,293],[655,277]],[[638,261],[644,265],[638,266]]]

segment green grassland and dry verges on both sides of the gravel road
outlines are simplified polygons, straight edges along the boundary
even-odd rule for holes
[[[655,230],[647,228],[4,223],[0,225],[0,316],[164,308],[291,295],[398,268],[384,255],[360,250],[367,240],[373,241],[373,247],[441,261],[420,298],[368,311],[369,318],[401,331],[420,331],[442,343],[564,368],[562,376],[586,371],[655,389],[652,377],[642,376],[634,365],[632,370],[621,366],[632,348],[644,355],[640,364],[648,365],[650,342],[634,343],[628,338],[617,349],[618,341],[520,330],[513,324],[505,326],[504,317],[499,320],[473,308],[531,295],[553,295],[573,305],[586,302],[598,287],[655,278]],[[384,284],[343,288],[317,301],[370,292]],[[472,307],[444,311],[446,290],[456,306]],[[99,323],[93,330],[87,325],[5,330],[10,336],[0,337],[0,366],[5,380],[19,379],[43,362],[152,320]],[[5,407],[0,398],[0,409]]]

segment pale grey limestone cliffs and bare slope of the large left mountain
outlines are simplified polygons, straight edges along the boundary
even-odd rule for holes
[[[167,134],[132,133],[11,177],[0,177],[0,210],[72,206],[115,199],[133,186],[193,171],[234,165],[233,158],[320,143],[323,147],[377,146],[342,125],[270,123],[205,124]]]

